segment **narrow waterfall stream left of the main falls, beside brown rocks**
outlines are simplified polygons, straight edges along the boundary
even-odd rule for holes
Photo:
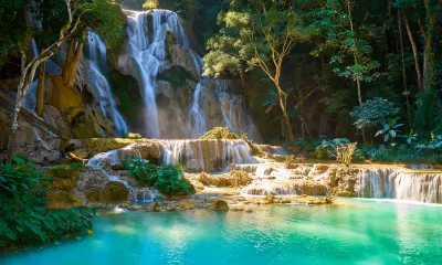
[[[104,76],[106,72],[106,46],[102,39],[94,32],[88,32],[87,35],[87,81],[88,85],[97,100],[102,113],[109,117],[115,124],[117,135],[124,136],[127,134],[127,126],[122,115],[116,108],[114,97],[110,92],[110,85]]]

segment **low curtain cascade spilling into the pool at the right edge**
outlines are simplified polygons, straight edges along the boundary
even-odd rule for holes
[[[361,198],[442,203],[442,173],[365,169],[358,179]]]

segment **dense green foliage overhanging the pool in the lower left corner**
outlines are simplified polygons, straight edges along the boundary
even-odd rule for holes
[[[91,233],[93,210],[48,210],[49,180],[19,157],[0,165],[0,250]]]

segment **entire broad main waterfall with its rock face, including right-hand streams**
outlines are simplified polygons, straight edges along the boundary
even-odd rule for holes
[[[243,98],[228,92],[220,81],[201,77],[203,62],[190,49],[189,38],[177,13],[169,10],[125,10],[125,13],[127,41],[117,67],[122,74],[133,76],[138,83],[145,105],[145,128],[139,131],[144,137],[194,139],[213,127],[227,126],[236,134],[245,132],[251,139],[259,139]],[[158,77],[173,71],[173,67],[191,75],[183,88],[170,88],[170,83]],[[177,94],[186,94],[186,91],[192,96],[182,103],[187,96]],[[159,95],[168,98],[162,106],[158,102]],[[212,97],[215,99],[212,100]]]

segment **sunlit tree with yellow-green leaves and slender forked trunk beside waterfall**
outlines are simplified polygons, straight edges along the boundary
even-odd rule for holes
[[[244,75],[257,67],[272,81],[282,112],[283,132],[294,141],[292,123],[287,114],[287,91],[282,87],[283,62],[294,45],[306,40],[301,17],[290,6],[274,1],[233,1],[231,9],[219,14],[224,25],[208,41],[204,56],[207,75],[231,73]]]

